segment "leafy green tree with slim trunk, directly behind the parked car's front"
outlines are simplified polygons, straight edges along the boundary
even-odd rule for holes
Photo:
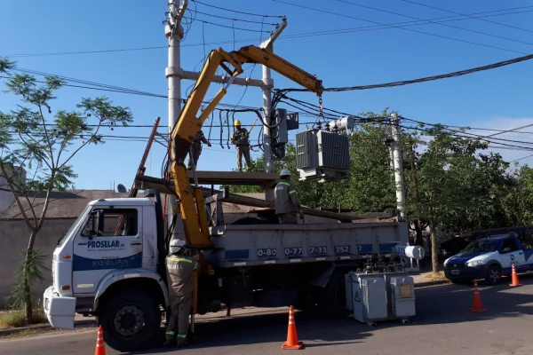
[[[505,224],[503,200],[513,185],[499,154],[482,154],[488,143],[464,138],[442,125],[424,132],[426,151],[415,153],[418,199],[408,214],[427,221],[432,264],[438,271],[436,230],[461,232]]]

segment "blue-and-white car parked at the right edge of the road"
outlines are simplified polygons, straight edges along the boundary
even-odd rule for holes
[[[460,253],[444,261],[444,273],[452,282],[486,280],[497,284],[502,275],[533,270],[533,249],[522,247],[514,236],[497,236],[473,241]]]

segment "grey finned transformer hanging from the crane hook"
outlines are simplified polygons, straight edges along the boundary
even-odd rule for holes
[[[326,182],[346,178],[350,168],[348,136],[327,130],[297,133],[296,167],[300,180]]]

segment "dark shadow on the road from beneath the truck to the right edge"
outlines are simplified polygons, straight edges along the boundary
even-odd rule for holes
[[[450,324],[472,322],[497,318],[521,317],[533,314],[533,278],[521,277],[524,284],[520,288],[508,286],[509,280],[502,284],[480,286],[481,302],[487,312],[475,313],[469,309],[473,305],[473,288],[469,285],[444,285],[430,288],[417,288],[416,316],[410,324],[399,321],[378,322],[377,327],[369,327],[352,318],[331,319],[315,312],[297,312],[296,323],[298,338],[307,348],[330,346],[334,344],[362,343],[380,329],[389,327],[424,326],[431,324]],[[280,347],[287,336],[288,314],[252,314],[218,318],[196,324],[195,335],[199,341],[186,349],[210,349],[253,343],[277,343]],[[163,344],[164,331],[158,343]],[[277,346],[277,345],[276,345]],[[130,354],[155,354],[176,351],[162,346],[147,351]]]

